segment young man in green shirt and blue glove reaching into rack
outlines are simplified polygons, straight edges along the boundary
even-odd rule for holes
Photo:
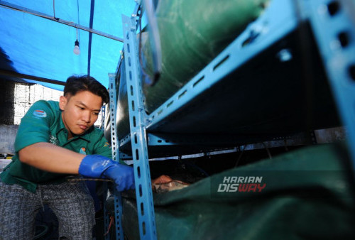
[[[38,101],[21,119],[13,161],[0,178],[0,239],[32,239],[35,213],[55,212],[60,237],[92,239],[94,205],[82,181],[68,175],[111,178],[133,189],[133,168],[111,160],[102,131],[94,128],[109,94],[93,77],[69,77],[59,102]]]

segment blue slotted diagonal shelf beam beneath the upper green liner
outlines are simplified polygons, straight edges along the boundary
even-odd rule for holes
[[[268,11],[263,13],[255,22],[251,23],[236,40],[224,49],[222,53],[217,55],[192,80],[187,82],[184,87],[178,90],[178,92],[151,114],[145,114],[146,130],[154,131],[165,119],[188,104],[191,99],[202,94],[206,89],[212,87],[226,75],[229,75],[229,73],[241,67],[241,65],[244,65],[245,62],[253,59],[259,53],[262,53],[263,50],[273,45],[276,41],[287,36],[297,28],[298,24],[299,19],[297,18],[293,0],[271,1]],[[251,38],[251,36],[253,36],[251,43],[244,45],[244,42]],[[186,135],[186,138],[190,138],[190,136]],[[197,143],[203,139],[208,138],[199,139]],[[176,138],[175,141],[170,140],[168,134],[157,136],[153,133],[148,133],[148,146],[163,146],[164,144],[165,146],[173,146],[182,143]],[[211,138],[207,141],[214,143]],[[130,142],[131,134],[120,140],[119,147],[127,147]],[[232,140],[230,142],[235,141]]]

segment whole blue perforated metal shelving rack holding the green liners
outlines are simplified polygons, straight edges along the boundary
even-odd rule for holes
[[[303,23],[310,24],[320,53],[325,74],[329,80],[339,116],[349,135],[349,151],[355,168],[355,22],[349,1],[341,0],[273,0],[266,12],[251,23],[222,53],[187,82],[178,92],[151,114],[143,107],[143,93],[139,76],[136,43],[136,15],[123,16],[124,60],[131,133],[119,141],[120,148],[131,143],[136,178],[138,222],[141,239],[156,239],[151,177],[148,165],[148,147],[165,148],[191,143],[223,144],[236,138],[223,136],[196,136],[189,131],[175,136],[167,129],[185,117],[189,104],[213,89],[233,72],[251,62],[266,49],[283,40]],[[245,44],[249,40],[249,44]],[[293,58],[292,50],[280,48],[275,55],[280,62]],[[115,88],[114,88],[115,89]],[[228,109],[231,111],[231,109]],[[189,112],[188,114],[191,114]],[[187,114],[187,119],[189,119]],[[196,123],[195,123],[196,124]],[[180,125],[180,130],[187,125]],[[202,129],[203,130],[203,129]],[[156,132],[159,132],[157,134]],[[197,134],[198,135],[198,134]],[[192,138],[192,141],[186,141]],[[203,139],[202,139],[203,138]],[[244,136],[244,140],[246,140]],[[225,141],[224,141],[225,140]],[[239,139],[243,141],[243,139]],[[173,153],[175,154],[175,153]]]

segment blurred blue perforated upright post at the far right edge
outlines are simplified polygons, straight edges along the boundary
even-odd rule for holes
[[[355,22],[351,1],[305,1],[355,169]],[[352,5],[351,5],[352,4]]]

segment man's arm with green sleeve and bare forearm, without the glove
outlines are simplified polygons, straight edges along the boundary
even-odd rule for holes
[[[75,174],[84,155],[50,143],[50,126],[58,116],[55,102],[35,102],[21,119],[15,149],[18,158],[40,170]]]

